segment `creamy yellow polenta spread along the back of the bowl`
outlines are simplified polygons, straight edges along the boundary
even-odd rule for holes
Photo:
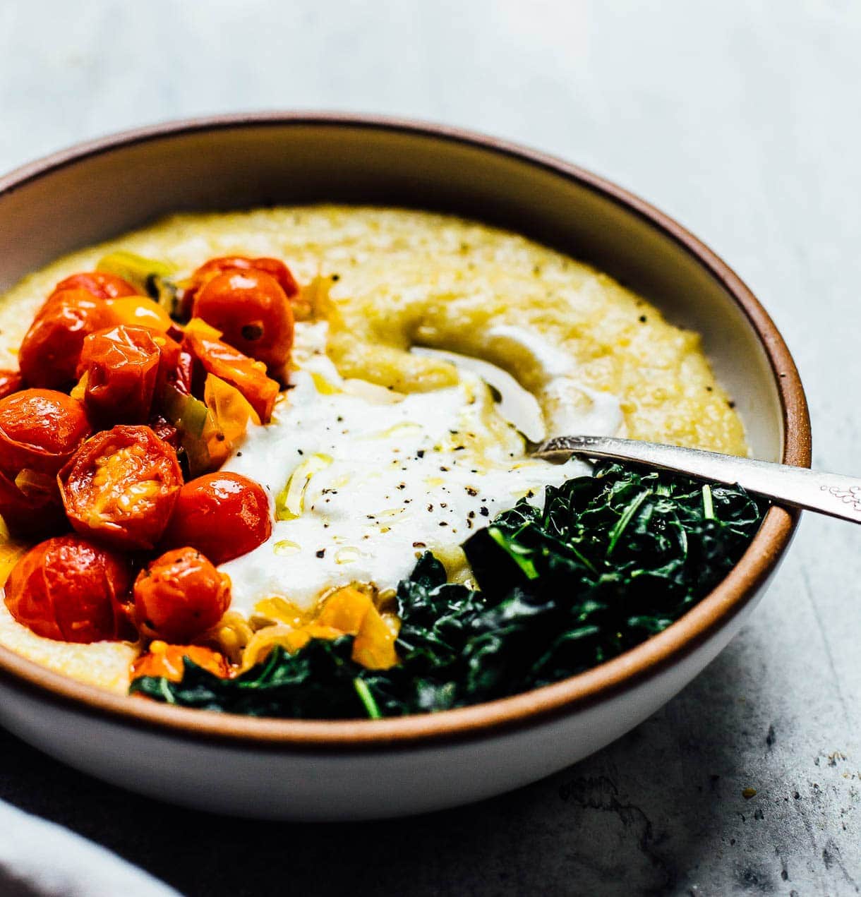
[[[344,378],[397,392],[457,382],[413,344],[491,361],[538,398],[550,435],[570,407],[615,396],[622,433],[744,454],[744,430],[699,336],[612,278],[523,237],[430,213],[307,206],[181,214],[83,249],[30,274],[0,302],[0,368],[54,284],[124,249],[190,274],[226,255],[283,258],[304,284],[299,304],[329,321],[326,351]],[[564,370],[561,370],[564,368]],[[561,376],[561,373],[564,376]],[[562,384],[562,388],[560,388]],[[40,639],[0,605],[0,643],[76,679],[127,687],[135,648]]]

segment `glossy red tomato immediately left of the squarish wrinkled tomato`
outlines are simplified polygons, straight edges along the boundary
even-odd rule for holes
[[[18,351],[27,385],[65,388],[74,383],[84,338],[112,324],[105,300],[86,290],[55,292],[39,309]]]

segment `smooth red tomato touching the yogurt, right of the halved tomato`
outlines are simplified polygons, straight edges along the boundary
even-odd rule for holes
[[[271,534],[264,488],[224,471],[198,476],[179,490],[162,544],[191,545],[219,564],[247,554]]]

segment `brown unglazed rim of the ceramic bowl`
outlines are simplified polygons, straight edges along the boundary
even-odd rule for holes
[[[768,357],[775,378],[785,432],[782,461],[795,466],[810,466],[810,416],[796,364],[777,327],[750,289],[726,262],[670,216],[628,190],[544,152],[462,128],[412,119],[337,112],[238,113],[184,118],[75,144],[25,164],[0,178],[0,199],[30,181],[93,156],[127,149],[135,144],[206,131],[266,126],[364,128],[459,144],[548,171],[634,213],[682,248],[724,287],[744,313]],[[4,684],[11,684],[36,700],[48,701],[65,710],[71,708],[92,717],[107,718],[115,723],[150,731],[161,730],[163,734],[170,733],[172,736],[203,738],[233,745],[244,743],[282,752],[351,753],[415,748],[439,741],[480,739],[500,730],[529,727],[581,710],[597,701],[629,691],[665,667],[682,660],[752,600],[777,567],[794,535],[799,516],[798,511],[770,508],[757,535],[726,579],[665,631],[620,657],[558,683],[457,710],[377,720],[334,721],[255,718],[193,710],[154,701],[135,701],[127,695],[77,682],[3,646],[0,646],[0,674]]]

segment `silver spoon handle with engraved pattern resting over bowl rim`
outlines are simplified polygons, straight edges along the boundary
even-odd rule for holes
[[[610,436],[557,436],[543,442],[533,455],[560,461],[571,455],[638,461],[712,483],[737,483],[778,504],[861,523],[861,478],[857,476],[822,474],[806,467]]]

